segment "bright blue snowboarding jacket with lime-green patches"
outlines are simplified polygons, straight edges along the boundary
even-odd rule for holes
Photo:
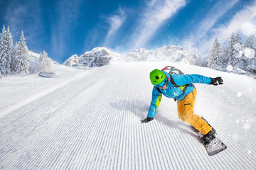
[[[164,72],[168,79],[167,88],[165,90],[160,89],[161,93],[156,89],[154,86],[152,91],[152,100],[149,108],[148,117],[154,118],[156,114],[156,109],[159,107],[161,102],[162,94],[168,98],[176,98],[178,101],[182,100],[187,94],[191,93],[194,89],[193,83],[200,83],[200,84],[210,84],[210,77],[204,77],[198,74],[173,74],[171,77],[174,79],[174,82],[178,86],[183,86],[188,84],[186,90],[183,91],[181,87],[175,87],[171,84],[171,77],[168,73]]]

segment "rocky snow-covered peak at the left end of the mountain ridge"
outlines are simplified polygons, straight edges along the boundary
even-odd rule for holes
[[[63,64],[67,66],[76,66],[82,64],[88,67],[100,67],[113,62],[117,62],[120,55],[108,50],[106,47],[95,47],[90,52],[85,52],[85,54],[78,57],[78,55],[73,55]]]

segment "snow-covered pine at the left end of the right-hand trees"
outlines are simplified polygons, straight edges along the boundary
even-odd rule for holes
[[[211,69],[217,69],[220,71],[224,70],[224,63],[223,63],[223,46],[220,45],[218,39],[215,38],[213,42],[213,46],[210,49],[208,55],[208,67]]]

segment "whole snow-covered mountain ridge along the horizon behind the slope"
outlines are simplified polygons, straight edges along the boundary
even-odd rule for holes
[[[106,47],[96,47],[90,52],[78,57],[73,55],[63,64],[67,66],[76,66],[83,64],[89,67],[98,67],[122,60],[124,62],[186,62],[199,66],[206,66],[206,60],[202,56],[193,52],[188,52],[181,47],[169,45],[156,50],[146,50],[144,48],[134,50],[128,55],[112,52]]]

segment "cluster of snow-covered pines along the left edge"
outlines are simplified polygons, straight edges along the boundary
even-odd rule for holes
[[[23,31],[18,42],[12,40],[10,27],[5,26],[0,33],[0,78],[9,75],[24,76],[36,72],[47,72],[51,69],[50,58],[43,51],[39,58],[29,55]]]

